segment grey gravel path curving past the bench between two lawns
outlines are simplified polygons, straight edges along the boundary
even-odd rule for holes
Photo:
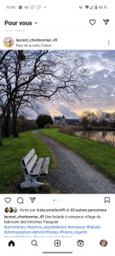
[[[115,183],[90,166],[82,157],[50,137],[33,132],[55,154],[57,165],[47,177],[53,189],[68,194],[113,194]]]

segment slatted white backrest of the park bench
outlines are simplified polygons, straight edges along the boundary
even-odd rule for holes
[[[21,166],[26,173],[30,173],[32,171],[32,167],[35,165],[37,160],[37,154],[35,154],[34,148],[26,154],[25,157],[21,159]]]

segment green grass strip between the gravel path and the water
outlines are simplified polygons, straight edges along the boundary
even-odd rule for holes
[[[115,147],[106,143],[93,142],[82,137],[61,133],[59,129],[43,129],[40,133],[54,138],[67,148],[71,148],[76,154],[87,160],[89,164],[95,166],[105,173],[107,177],[115,181]]]

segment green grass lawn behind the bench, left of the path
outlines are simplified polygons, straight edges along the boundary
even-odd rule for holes
[[[20,160],[32,149],[39,157],[50,157],[49,168],[54,164],[54,158],[49,148],[32,131],[21,132],[18,138],[4,138],[0,147],[0,193],[9,193],[9,185],[22,173]]]

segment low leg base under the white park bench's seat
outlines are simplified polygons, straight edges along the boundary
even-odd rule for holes
[[[44,185],[44,183],[37,182],[36,177],[26,177],[26,181],[20,184],[20,188],[22,189],[33,188],[33,187],[38,188],[41,185]]]

